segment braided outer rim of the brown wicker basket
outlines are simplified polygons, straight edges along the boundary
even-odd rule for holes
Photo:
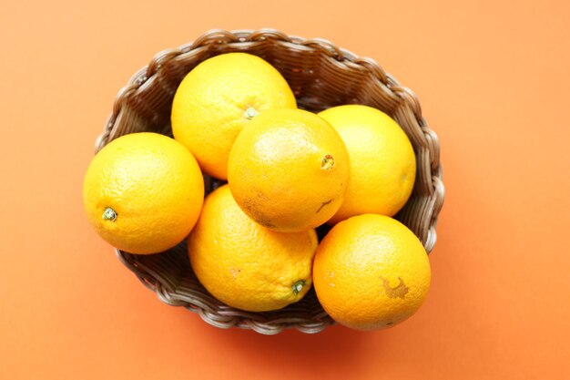
[[[194,41],[178,46],[176,48],[165,49],[156,54],[147,66],[141,67],[130,77],[127,85],[122,87],[115,99],[112,111],[107,118],[107,123],[103,132],[97,136],[95,142],[95,151],[102,149],[110,140],[117,137],[117,120],[121,116],[121,112],[126,108],[130,98],[136,97],[137,91],[144,88],[146,84],[152,82],[151,79],[158,76],[161,70],[172,59],[179,56],[199,52],[200,49],[208,49],[210,46],[239,46],[239,44],[251,44],[257,42],[269,41],[282,46],[290,46],[296,51],[305,51],[309,53],[318,53],[331,58],[332,62],[339,65],[355,68],[365,71],[377,79],[386,89],[386,96],[392,97],[394,104],[404,107],[413,115],[414,123],[417,124],[419,130],[417,132],[418,139],[422,139],[422,144],[426,149],[427,169],[431,180],[424,184],[426,193],[430,194],[430,199],[422,206],[421,211],[414,209],[413,212],[422,212],[425,218],[418,221],[417,229],[425,230],[425,238],[422,243],[426,252],[431,252],[436,241],[436,225],[440,211],[443,207],[444,187],[443,187],[443,170],[440,162],[440,145],[439,139],[433,129],[428,127],[427,122],[422,117],[422,108],[419,99],[408,87],[403,87],[395,77],[389,73],[372,58],[362,57],[352,53],[350,50],[334,45],[331,41],[323,38],[303,38],[301,36],[290,36],[277,29],[211,29],[202,36],[198,36]],[[233,44],[233,45],[232,45]],[[130,133],[127,131],[127,133]],[[412,212],[412,211],[410,211]],[[405,218],[406,215],[403,215]],[[209,324],[220,328],[228,328],[237,326],[240,328],[251,329],[260,334],[278,334],[286,328],[296,328],[303,333],[314,334],[322,331],[328,325],[334,324],[334,321],[326,313],[317,313],[307,317],[276,317],[268,319],[265,314],[247,313],[238,310],[230,310],[217,307],[206,296],[200,295],[196,298],[189,297],[188,294],[177,293],[176,285],[171,283],[168,278],[162,276],[161,273],[153,271],[141,262],[137,255],[116,250],[119,260],[127,266],[127,268],[137,275],[137,278],[145,284],[150,290],[157,293],[158,298],[171,305],[178,305],[188,308],[188,310],[198,313],[200,317]],[[167,276],[168,277],[168,276]],[[188,301],[189,300],[189,301]]]

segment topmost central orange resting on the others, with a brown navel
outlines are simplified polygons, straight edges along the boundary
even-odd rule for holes
[[[344,200],[349,176],[339,134],[300,109],[261,112],[229,154],[229,187],[239,207],[276,231],[303,231],[328,221]]]

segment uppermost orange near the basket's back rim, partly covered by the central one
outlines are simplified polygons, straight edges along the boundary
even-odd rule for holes
[[[172,131],[204,172],[226,180],[229,150],[239,131],[267,108],[297,108],[279,71],[247,53],[213,56],[180,83],[172,104]]]

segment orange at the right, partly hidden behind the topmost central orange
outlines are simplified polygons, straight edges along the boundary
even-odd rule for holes
[[[351,157],[351,180],[330,223],[354,215],[393,216],[412,194],[416,160],[402,128],[382,111],[361,105],[319,113],[341,135]]]

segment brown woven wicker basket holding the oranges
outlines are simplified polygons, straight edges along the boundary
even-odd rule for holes
[[[412,197],[396,216],[420,238],[427,252],[435,244],[435,225],[443,205],[439,142],[422,118],[418,99],[372,59],[322,39],[287,36],[263,29],[228,32],[212,30],[193,43],[158,53],[123,87],[115,101],[96,151],[127,133],[154,131],[172,136],[170,107],[183,77],[210,56],[243,51],[261,56],[287,79],[300,108],[320,111],[348,103],[366,104],[395,118],[412,141],[417,157],[417,178]],[[219,186],[205,177],[206,189]],[[321,234],[326,231],[321,230]],[[284,328],[318,333],[333,324],[314,291],[299,303],[269,313],[247,313],[212,297],[198,282],[185,243],[154,255],[117,250],[119,259],[164,303],[184,306],[209,324],[237,326],[261,334],[278,334]]]

